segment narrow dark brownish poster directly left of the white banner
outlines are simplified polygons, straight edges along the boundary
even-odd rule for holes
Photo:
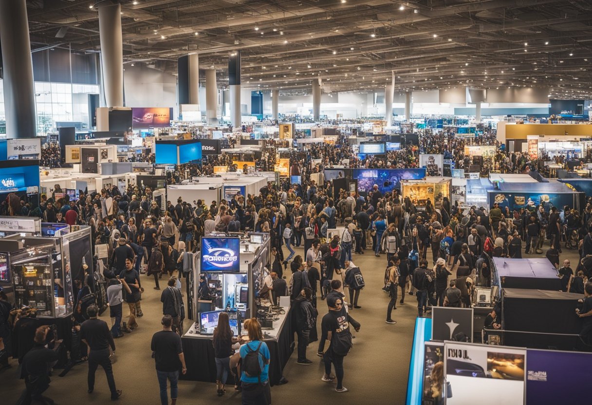
[[[444,389],[444,343],[424,343],[422,405],[442,403]]]

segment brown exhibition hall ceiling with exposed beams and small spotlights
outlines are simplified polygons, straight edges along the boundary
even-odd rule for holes
[[[100,49],[96,1],[27,5],[32,49]],[[592,98],[589,0],[126,0],[121,10],[124,63],[176,73],[179,56],[198,53],[219,85],[240,50],[243,87],[282,94],[310,94],[317,76],[324,92],[371,91],[394,75],[395,91],[544,86]]]

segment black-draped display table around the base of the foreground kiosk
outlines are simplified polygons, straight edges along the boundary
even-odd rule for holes
[[[289,297],[280,304],[284,307],[285,314],[279,315],[274,321],[273,330],[263,330],[263,341],[267,344],[271,359],[269,362],[269,383],[278,384],[282,378],[282,372],[294,351],[294,330],[292,329],[291,311],[289,310]],[[195,332],[196,324],[192,324],[185,335],[182,336],[183,352],[185,353],[186,374],[179,373],[179,379],[189,381],[216,382],[216,365],[214,359],[214,346],[211,335],[199,335]],[[199,330],[199,327],[197,327]],[[233,375],[229,375],[228,384],[234,384]]]

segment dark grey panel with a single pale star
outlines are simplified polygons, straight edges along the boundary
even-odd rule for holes
[[[464,333],[473,339],[473,308],[432,307],[432,340],[452,340]]]

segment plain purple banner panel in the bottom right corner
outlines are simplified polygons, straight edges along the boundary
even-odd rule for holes
[[[581,404],[590,397],[592,353],[527,349],[526,405]]]

